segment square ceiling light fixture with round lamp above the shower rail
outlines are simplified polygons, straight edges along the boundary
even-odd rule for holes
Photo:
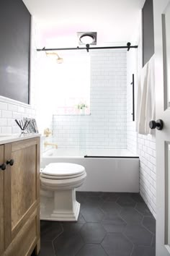
[[[97,32],[77,32],[79,38],[79,45],[96,45]]]

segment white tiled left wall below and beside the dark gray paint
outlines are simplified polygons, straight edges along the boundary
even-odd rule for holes
[[[35,46],[36,26],[32,18],[32,39],[31,39],[31,105],[13,101],[9,98],[0,96],[0,133],[11,134],[20,132],[19,127],[14,119],[22,119],[22,117],[35,117],[35,61],[36,61],[36,46]]]

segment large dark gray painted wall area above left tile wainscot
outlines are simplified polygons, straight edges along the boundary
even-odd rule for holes
[[[0,2],[0,95],[29,103],[31,15],[22,0]]]

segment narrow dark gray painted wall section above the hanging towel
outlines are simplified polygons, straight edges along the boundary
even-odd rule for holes
[[[160,0],[161,1],[161,0]],[[153,0],[143,6],[143,66],[154,54]]]

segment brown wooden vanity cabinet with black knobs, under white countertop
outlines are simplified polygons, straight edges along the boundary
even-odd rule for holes
[[[40,137],[0,146],[0,255],[40,251]],[[3,158],[4,150],[4,161]],[[1,243],[2,241],[2,243]]]

